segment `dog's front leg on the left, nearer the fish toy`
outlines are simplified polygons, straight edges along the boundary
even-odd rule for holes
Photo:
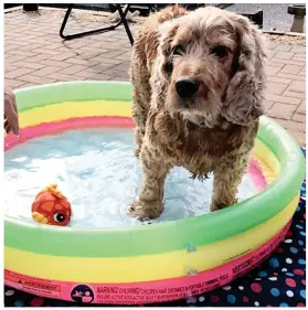
[[[162,160],[155,159],[147,147],[142,147],[140,158],[144,178],[139,199],[129,205],[128,213],[132,217],[148,221],[159,217],[163,210],[164,179],[171,165],[166,164]]]

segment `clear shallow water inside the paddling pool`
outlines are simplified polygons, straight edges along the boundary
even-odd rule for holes
[[[141,168],[134,157],[131,129],[72,130],[33,139],[4,154],[4,207],[10,217],[32,222],[31,204],[39,191],[52,183],[67,196],[74,227],[141,225],[126,214],[141,181]],[[204,181],[176,168],[166,180],[166,222],[209,212],[212,177]],[[248,175],[238,199],[256,193]]]

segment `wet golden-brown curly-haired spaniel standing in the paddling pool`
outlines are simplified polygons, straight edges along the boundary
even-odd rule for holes
[[[146,20],[129,68],[144,174],[129,215],[159,217],[173,167],[201,180],[213,172],[211,211],[237,202],[263,115],[265,60],[262,32],[233,12],[176,4]]]

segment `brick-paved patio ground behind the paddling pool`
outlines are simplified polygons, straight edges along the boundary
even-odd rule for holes
[[[127,81],[131,46],[124,30],[63,42],[63,14],[4,15],[6,79],[13,88],[82,79]],[[67,31],[102,26],[70,20]],[[305,46],[269,44],[266,113],[305,145]]]

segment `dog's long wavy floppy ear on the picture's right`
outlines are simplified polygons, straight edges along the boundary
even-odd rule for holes
[[[261,31],[248,19],[234,14],[232,20],[238,47],[223,96],[222,115],[231,122],[248,125],[263,115],[265,47]]]

